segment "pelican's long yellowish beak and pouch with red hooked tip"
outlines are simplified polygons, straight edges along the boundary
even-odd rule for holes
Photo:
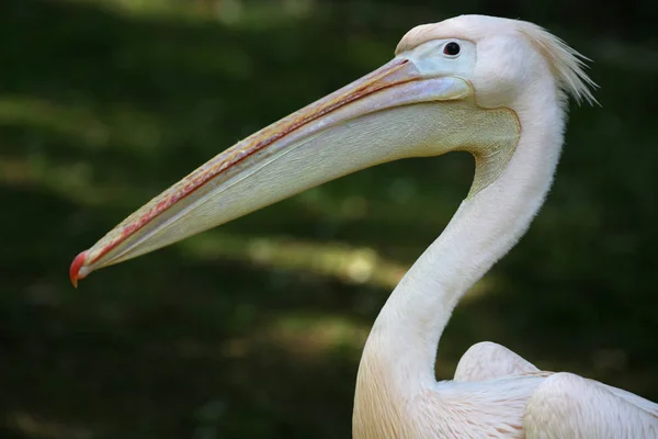
[[[173,244],[373,165],[456,149],[474,111],[458,78],[421,74],[398,56],[217,155],[73,260],[91,271]]]

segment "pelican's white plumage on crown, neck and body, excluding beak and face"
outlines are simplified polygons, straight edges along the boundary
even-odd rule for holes
[[[359,370],[354,438],[658,437],[658,405],[570,373],[541,372],[499,345],[475,345],[454,381],[435,381],[435,348],[453,307],[544,201],[566,94],[593,100],[578,54],[534,24],[460,16],[410,31],[398,50],[438,37],[476,43],[468,79],[478,103],[511,108],[521,135],[502,173],[464,201],[377,317]]]

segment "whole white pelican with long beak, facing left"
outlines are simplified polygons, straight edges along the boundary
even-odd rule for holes
[[[594,102],[579,53],[542,27],[463,15],[412,29],[389,63],[217,155],[75,258],[73,284],[347,173],[473,154],[470,190],[394,290],[359,367],[353,437],[656,438],[658,405],[492,342],[436,381],[464,293],[525,233],[556,170],[569,97]]]

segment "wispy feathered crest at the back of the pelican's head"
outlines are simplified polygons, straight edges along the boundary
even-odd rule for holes
[[[572,95],[579,104],[583,100],[590,104],[598,104],[592,89],[599,86],[585,72],[586,61],[591,61],[591,59],[535,24],[527,22],[519,22],[519,24],[521,24],[519,32],[541,50],[551,65],[560,89]]]

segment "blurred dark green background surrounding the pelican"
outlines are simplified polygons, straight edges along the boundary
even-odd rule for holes
[[[127,214],[393,56],[410,27],[522,18],[594,60],[546,206],[456,309],[436,373],[492,340],[658,399],[658,3],[0,2],[2,438],[349,437],[368,329],[473,160],[381,166],[73,290]]]

